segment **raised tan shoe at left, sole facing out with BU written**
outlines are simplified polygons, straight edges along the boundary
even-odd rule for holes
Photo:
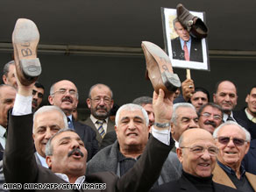
[[[18,80],[23,85],[36,82],[41,74],[41,65],[37,58],[39,30],[32,20],[18,18],[12,32],[12,45]]]

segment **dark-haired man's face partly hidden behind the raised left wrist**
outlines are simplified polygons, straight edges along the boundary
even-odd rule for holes
[[[40,104],[43,101],[45,94],[45,87],[40,82],[35,82],[32,90],[32,110],[36,111],[39,109]]]

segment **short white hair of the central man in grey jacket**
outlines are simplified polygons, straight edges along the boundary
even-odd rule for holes
[[[145,118],[145,121],[146,121],[146,126],[148,126],[148,123],[149,123],[149,119],[148,119],[148,115],[146,113],[146,110],[144,110],[143,107],[141,107],[140,105],[138,104],[133,104],[133,103],[128,103],[128,104],[124,104],[122,105],[118,110],[117,110],[117,114],[116,114],[116,125],[118,126],[118,120],[119,120],[119,116],[120,116],[120,113],[121,111],[123,110],[129,110],[129,111],[134,111],[134,110],[141,110],[144,118]]]

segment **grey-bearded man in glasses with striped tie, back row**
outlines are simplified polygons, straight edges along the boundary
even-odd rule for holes
[[[110,120],[110,110],[114,104],[113,92],[107,85],[93,85],[89,89],[86,102],[90,117],[84,121],[84,124],[94,128],[96,139],[101,144],[106,133],[115,131],[115,124]]]

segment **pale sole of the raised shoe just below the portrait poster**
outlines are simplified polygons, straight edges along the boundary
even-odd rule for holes
[[[181,87],[181,81],[179,76],[174,74],[172,63],[167,53],[165,53],[159,46],[155,44],[143,41],[142,47],[153,56],[153,59],[156,60],[158,68],[160,69],[161,79],[167,90],[174,92],[176,89]],[[148,75],[148,71],[146,71]],[[148,77],[148,76],[147,76]]]

